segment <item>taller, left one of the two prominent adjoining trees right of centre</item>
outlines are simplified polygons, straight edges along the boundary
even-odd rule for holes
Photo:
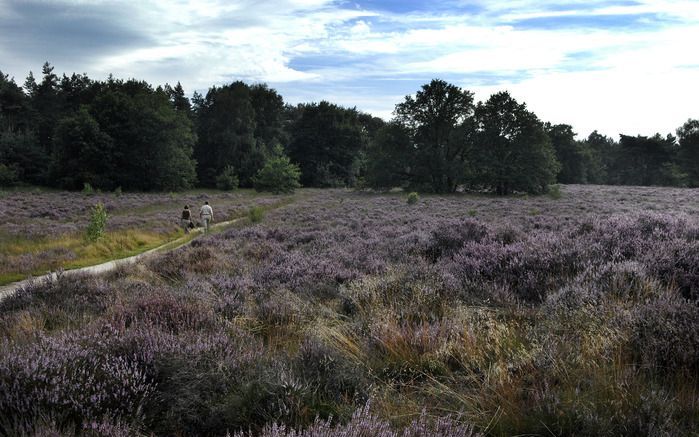
[[[414,185],[452,192],[463,181],[473,108],[473,93],[439,79],[396,105],[396,121],[411,137]]]

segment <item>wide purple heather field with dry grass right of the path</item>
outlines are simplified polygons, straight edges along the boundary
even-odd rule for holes
[[[22,289],[0,434],[699,432],[699,190],[561,194],[306,191]]]

